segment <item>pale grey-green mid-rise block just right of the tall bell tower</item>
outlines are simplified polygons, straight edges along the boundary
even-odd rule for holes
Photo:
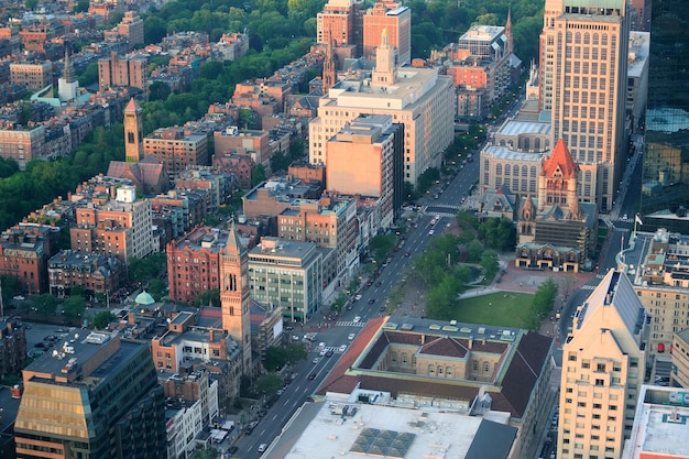
[[[261,238],[249,252],[251,297],[282,307],[289,321],[306,321],[322,292],[322,255],[314,242]]]

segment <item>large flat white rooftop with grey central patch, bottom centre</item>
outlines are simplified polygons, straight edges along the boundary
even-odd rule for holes
[[[516,436],[515,427],[478,416],[352,402],[357,396],[306,404],[265,459],[502,459]],[[490,448],[479,445],[489,438]]]

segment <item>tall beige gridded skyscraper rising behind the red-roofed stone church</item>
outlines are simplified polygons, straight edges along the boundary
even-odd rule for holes
[[[546,0],[540,108],[581,168],[580,198],[601,211],[626,166],[628,36],[625,0]]]

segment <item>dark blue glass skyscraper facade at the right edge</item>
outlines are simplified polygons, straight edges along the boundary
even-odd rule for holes
[[[689,207],[689,9],[686,1],[654,0],[650,28],[642,188],[644,216]],[[654,221],[644,218],[644,225],[654,225]],[[686,232],[687,229],[689,226],[671,230]]]

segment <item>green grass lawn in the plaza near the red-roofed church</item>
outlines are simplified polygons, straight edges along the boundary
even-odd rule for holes
[[[524,328],[529,324],[533,299],[531,293],[514,292],[470,296],[459,300],[452,317],[464,324]]]

